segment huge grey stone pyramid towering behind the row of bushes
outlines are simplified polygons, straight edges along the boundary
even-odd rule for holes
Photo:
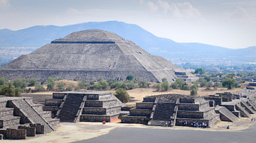
[[[177,72],[178,71],[178,72]],[[29,55],[0,68],[7,79],[48,77],[95,81],[126,79],[133,74],[147,81],[174,81],[179,69],[162,57],[150,55],[134,42],[105,30],[83,30],[53,40]],[[185,73],[185,71],[182,71]]]

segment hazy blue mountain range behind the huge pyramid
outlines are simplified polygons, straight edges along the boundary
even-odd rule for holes
[[[12,58],[11,53],[6,55],[8,47],[12,47],[12,50],[14,47],[17,47],[17,50],[20,50],[18,47],[28,47],[28,50],[32,52],[35,48],[31,47],[41,47],[52,40],[63,38],[75,31],[87,29],[102,29],[116,33],[126,40],[135,42],[151,55],[165,57],[174,64],[191,62],[193,64],[214,65],[256,62],[256,47],[233,50],[196,42],[174,42],[167,38],[159,38],[138,25],[119,21],[89,22],[65,26],[36,25],[22,30],[2,29],[0,30],[0,60]],[[3,48],[4,56],[2,55]],[[27,51],[22,53],[27,53]],[[17,56],[19,55],[14,57]]]

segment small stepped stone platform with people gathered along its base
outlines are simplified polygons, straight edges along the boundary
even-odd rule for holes
[[[137,103],[136,108],[129,110],[129,115],[123,115],[121,119],[122,122],[159,126],[166,126],[166,123],[171,125],[171,122],[181,126],[207,122],[207,127],[211,127],[220,120],[220,114],[215,113],[214,109],[210,101],[203,98],[166,94],[144,98],[143,102]],[[184,125],[184,122],[187,124]]]

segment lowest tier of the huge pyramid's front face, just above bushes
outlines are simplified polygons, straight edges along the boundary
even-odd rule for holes
[[[46,81],[48,77],[63,78],[68,80],[78,79],[80,81],[97,81],[102,79],[126,80],[127,75],[133,74],[150,82],[156,82],[158,79],[149,71],[65,71],[65,70],[0,70],[0,75],[5,76],[8,80],[13,79],[31,79]]]

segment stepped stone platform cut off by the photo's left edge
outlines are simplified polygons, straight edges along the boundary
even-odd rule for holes
[[[43,111],[42,104],[32,98],[0,96],[0,135],[5,139],[26,139],[36,134],[52,132],[59,119]]]

